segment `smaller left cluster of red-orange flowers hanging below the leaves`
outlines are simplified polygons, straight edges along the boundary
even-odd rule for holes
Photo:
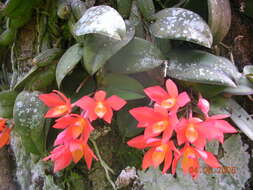
[[[49,94],[41,94],[40,100],[50,109],[45,118],[58,118],[53,128],[63,129],[54,142],[55,148],[44,160],[51,159],[54,162],[54,172],[66,168],[72,161],[74,163],[84,157],[87,167],[90,169],[92,159],[97,157],[88,145],[88,139],[93,127],[91,122],[97,118],[111,123],[113,111],[121,109],[126,102],[118,96],[106,99],[104,91],[95,93],[94,98],[84,96],[72,103],[59,91],[54,90]],[[81,108],[81,114],[72,113],[74,106]]]

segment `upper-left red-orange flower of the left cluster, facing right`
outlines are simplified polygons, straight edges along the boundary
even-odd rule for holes
[[[45,115],[46,118],[60,117],[71,112],[70,99],[57,90],[49,94],[41,94],[39,98],[50,108]]]

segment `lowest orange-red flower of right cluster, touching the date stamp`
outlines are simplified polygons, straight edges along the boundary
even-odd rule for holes
[[[185,174],[190,173],[193,178],[199,175],[199,158],[205,161],[207,165],[212,168],[220,167],[219,162],[211,152],[206,152],[197,148],[191,147],[186,144],[180,153],[175,154],[175,158],[172,163],[172,173],[176,171],[176,166],[179,159],[182,158],[182,169]]]

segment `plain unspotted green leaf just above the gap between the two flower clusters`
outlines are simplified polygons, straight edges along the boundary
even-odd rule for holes
[[[108,74],[101,81],[108,96],[117,95],[125,100],[144,98],[143,86],[134,78],[121,74]]]

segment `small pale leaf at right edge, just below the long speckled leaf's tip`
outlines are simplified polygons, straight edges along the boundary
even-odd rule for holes
[[[223,92],[231,95],[251,95],[253,94],[253,84],[245,76],[242,76],[236,88],[228,87]]]

